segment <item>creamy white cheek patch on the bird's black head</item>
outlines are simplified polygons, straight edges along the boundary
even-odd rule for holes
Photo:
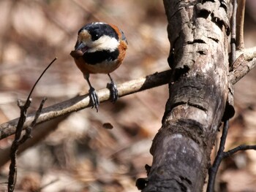
[[[107,35],[103,35],[102,37],[99,37],[94,42],[90,42],[90,49],[88,52],[96,52],[100,50],[109,50],[114,51],[119,45],[119,41],[114,37],[109,37]]]

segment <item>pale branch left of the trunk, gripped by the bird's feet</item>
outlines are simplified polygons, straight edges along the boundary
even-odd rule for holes
[[[148,75],[146,77],[141,77],[137,80],[131,80],[128,82],[124,82],[117,86],[118,95],[126,96],[132,93],[136,93],[138,91],[144,91],[149,88],[154,88],[160,85],[165,85],[169,82],[170,70],[165,72],[154,73]],[[108,101],[110,98],[110,91],[108,88],[103,88],[97,91],[99,96],[99,101],[104,102]],[[67,101],[63,101],[59,104],[54,104],[50,107],[45,107],[42,109],[42,113],[37,120],[37,124],[43,123],[50,119],[67,115],[71,112],[76,112],[78,110],[83,110],[84,108],[91,107],[91,102],[89,95],[76,96],[75,98],[69,99]],[[100,108],[99,108],[100,110]],[[26,128],[34,119],[34,113],[31,113],[26,118],[26,122],[24,123],[24,127]],[[18,119],[10,120],[7,123],[3,123],[0,125],[0,139],[8,137],[15,133],[15,126],[17,125]]]

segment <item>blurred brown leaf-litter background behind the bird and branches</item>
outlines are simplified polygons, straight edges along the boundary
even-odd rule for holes
[[[245,45],[256,46],[256,1],[247,0]],[[86,23],[113,23],[129,42],[124,64],[112,77],[116,83],[169,69],[167,20],[162,1],[0,0],[0,123],[18,118],[17,99],[25,100],[45,67],[32,98],[31,111],[47,97],[45,107],[88,92],[70,51]],[[236,117],[226,149],[256,144],[256,71],[236,85]],[[104,74],[92,74],[94,88],[105,88]],[[42,124],[35,142],[18,158],[17,191],[138,191],[135,180],[151,165],[151,140],[161,127],[167,85],[100,104]],[[106,128],[110,123],[113,128]],[[105,124],[106,125],[106,124]],[[5,164],[13,137],[0,141],[0,191],[7,188]],[[20,150],[22,151],[22,150]],[[1,163],[2,162],[2,163]],[[256,191],[256,153],[227,158],[217,178],[219,191]]]

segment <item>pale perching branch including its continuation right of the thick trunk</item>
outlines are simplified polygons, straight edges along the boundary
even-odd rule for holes
[[[235,84],[244,75],[246,75],[255,65],[256,65],[256,47],[249,50],[239,50],[237,55],[244,54],[243,59],[237,59],[234,64],[233,72],[230,72],[230,82]],[[159,72],[150,74],[146,77],[140,77],[137,80],[130,80],[128,82],[121,83],[117,86],[119,97],[127,96],[132,93],[137,93],[139,91],[144,91],[149,88],[154,88],[160,85],[165,85],[170,81],[171,70],[165,72]],[[107,88],[103,88],[97,91],[99,96],[99,101],[102,103],[108,101],[110,97],[110,92]],[[67,115],[71,112],[76,112],[83,110],[87,107],[91,107],[88,94],[83,96],[76,96],[75,98],[63,101],[59,104],[54,104],[50,107],[45,107],[42,109],[42,113],[37,120],[37,124],[43,123],[53,118],[57,118],[62,115]],[[34,119],[34,113],[31,113],[26,118],[24,123],[24,128],[29,126],[29,124]],[[10,120],[7,123],[0,125],[0,139],[9,137],[15,133],[15,126],[18,123],[18,119]]]

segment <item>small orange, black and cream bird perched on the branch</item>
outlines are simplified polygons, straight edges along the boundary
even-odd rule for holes
[[[110,100],[118,99],[118,91],[110,73],[121,65],[127,50],[127,39],[117,26],[108,23],[89,23],[78,31],[75,50],[70,55],[89,84],[92,107],[98,111],[99,99],[89,81],[89,74],[108,74]]]

